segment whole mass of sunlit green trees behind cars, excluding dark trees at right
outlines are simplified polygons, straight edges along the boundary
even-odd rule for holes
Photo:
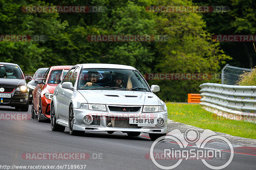
[[[104,6],[102,13],[23,13],[25,5]],[[17,63],[24,72],[52,65],[115,63],[142,74],[218,73],[230,59],[212,42],[198,13],[149,13],[150,5],[193,5],[189,0],[3,0],[1,34],[47,35],[46,42],[0,42],[0,62]],[[90,42],[88,35],[169,35],[168,42]],[[197,80],[149,80],[160,85],[162,100],[185,101],[197,93]],[[214,82],[214,81],[212,81]]]

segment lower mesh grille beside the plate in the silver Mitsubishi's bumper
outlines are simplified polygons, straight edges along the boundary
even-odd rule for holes
[[[116,120],[116,117],[106,116],[107,127],[109,128],[141,128],[137,124],[129,124],[129,119]]]

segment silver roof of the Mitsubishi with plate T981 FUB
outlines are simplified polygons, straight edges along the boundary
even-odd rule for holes
[[[128,70],[136,70],[134,67],[129,65],[121,65],[121,64],[102,64],[102,63],[89,63],[89,64],[76,64],[82,65],[83,69],[85,68],[112,68],[112,69],[128,69]]]

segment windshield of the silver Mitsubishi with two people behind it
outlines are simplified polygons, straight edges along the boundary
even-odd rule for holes
[[[145,79],[136,70],[82,69],[78,90],[134,90],[150,92]]]

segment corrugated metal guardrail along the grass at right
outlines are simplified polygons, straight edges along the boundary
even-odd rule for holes
[[[200,105],[207,111],[234,120],[256,122],[256,86],[204,83]]]

